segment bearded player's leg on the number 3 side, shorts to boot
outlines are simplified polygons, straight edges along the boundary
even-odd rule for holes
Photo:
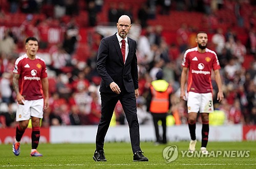
[[[202,119],[202,146],[201,151],[204,154],[208,154],[206,146],[208,143],[209,135],[209,113],[214,111],[214,105],[212,102],[212,94],[204,93],[202,95],[202,104],[200,107],[201,119]]]

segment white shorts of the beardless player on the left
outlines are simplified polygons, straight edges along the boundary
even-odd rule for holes
[[[24,105],[18,104],[16,111],[16,121],[29,120],[31,117],[42,119],[44,99],[25,100]]]

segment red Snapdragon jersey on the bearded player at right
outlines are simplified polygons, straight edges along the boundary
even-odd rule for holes
[[[221,68],[217,54],[214,51],[206,48],[204,53],[200,53],[197,47],[187,49],[184,53],[182,66],[189,69],[187,92],[212,92],[211,70]]]

